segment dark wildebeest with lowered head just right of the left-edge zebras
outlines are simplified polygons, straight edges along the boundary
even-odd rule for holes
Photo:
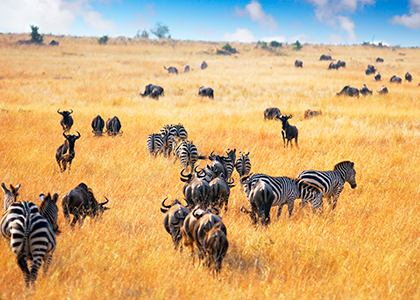
[[[105,207],[109,200],[104,198],[105,202],[98,203],[92,189],[82,182],[63,197],[61,204],[64,218],[70,222],[70,214],[72,214],[74,218],[70,225],[74,227],[77,222],[80,226],[83,225],[87,216],[92,219],[101,217],[104,211],[109,209],[109,207]]]

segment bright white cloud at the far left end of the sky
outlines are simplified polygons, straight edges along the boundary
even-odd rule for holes
[[[87,0],[2,0],[0,32],[29,32],[29,25],[36,25],[41,33],[69,34],[79,16],[87,29],[115,31],[114,22],[104,20]]]

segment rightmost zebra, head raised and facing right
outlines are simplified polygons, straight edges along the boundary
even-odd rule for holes
[[[307,170],[300,173],[298,177],[321,189],[328,203],[332,205],[333,210],[337,205],[337,200],[344,188],[344,184],[348,182],[352,189],[357,186],[354,162],[351,161],[342,161],[336,164],[333,171]],[[305,204],[306,202],[302,202],[302,205]]]

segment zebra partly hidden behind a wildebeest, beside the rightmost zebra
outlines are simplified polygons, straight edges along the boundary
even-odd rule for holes
[[[291,217],[296,199],[302,199],[305,202],[309,201],[316,211],[320,209],[320,212],[322,212],[322,191],[301,178],[272,177],[265,174],[245,175],[240,181],[248,200],[250,200],[249,195],[251,190],[259,180],[271,186],[273,190],[274,200],[272,206],[279,207],[277,218],[280,217],[283,205],[285,204],[287,204],[289,217]]]

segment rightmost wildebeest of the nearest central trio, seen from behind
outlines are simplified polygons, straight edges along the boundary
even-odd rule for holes
[[[207,258],[206,265],[215,271],[216,274],[220,273],[223,258],[229,249],[229,242],[223,231],[223,226],[220,222],[214,224],[213,228],[206,233],[201,241]]]

